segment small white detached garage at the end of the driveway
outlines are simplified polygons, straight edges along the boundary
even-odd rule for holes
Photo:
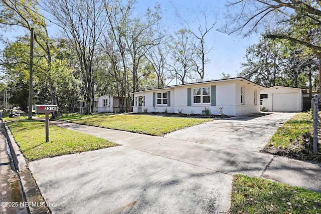
[[[273,86],[260,91],[261,107],[268,111],[292,111],[303,110],[303,93],[306,89]]]

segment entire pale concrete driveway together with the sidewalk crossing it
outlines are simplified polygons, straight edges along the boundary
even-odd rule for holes
[[[321,191],[320,164],[259,152],[293,113],[258,116],[165,137],[52,121],[122,146],[32,161],[29,168],[53,213],[224,213],[236,173]]]

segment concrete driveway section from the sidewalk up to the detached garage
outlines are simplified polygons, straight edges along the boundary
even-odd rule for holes
[[[216,120],[166,135],[202,144],[227,148],[260,151],[276,128],[283,125],[295,113],[257,113]]]

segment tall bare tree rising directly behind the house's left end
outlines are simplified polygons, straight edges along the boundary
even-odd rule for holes
[[[156,5],[154,10],[147,9],[144,16],[135,17],[133,15],[135,4],[135,0],[110,0],[109,4],[105,4],[110,27],[108,38],[106,35],[105,41],[108,40],[109,44],[114,47],[113,50],[117,50],[122,62],[125,110],[131,108],[129,92],[137,92],[139,89],[138,84],[141,77],[139,69],[145,60],[146,52],[159,42],[158,31],[159,20],[161,20],[159,5]]]

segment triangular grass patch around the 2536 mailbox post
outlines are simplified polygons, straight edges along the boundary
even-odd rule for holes
[[[7,123],[20,150],[28,160],[71,154],[116,146],[116,143],[92,135],[49,125],[46,141],[45,123],[21,120]]]

